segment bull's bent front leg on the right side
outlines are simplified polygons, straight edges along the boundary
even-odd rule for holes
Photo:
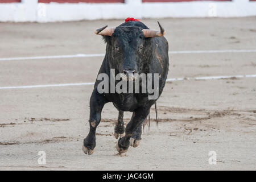
[[[149,108],[139,108],[134,111],[131,121],[127,124],[125,129],[125,137],[118,140],[117,151],[124,153],[128,150],[129,146],[137,147],[141,140],[142,123],[147,118],[150,111]]]

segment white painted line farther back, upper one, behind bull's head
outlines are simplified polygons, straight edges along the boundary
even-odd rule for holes
[[[204,51],[169,51],[170,54],[186,54],[186,53],[250,53],[256,52],[256,49],[243,49],[243,50],[204,50]],[[105,53],[83,54],[77,55],[57,55],[57,56],[34,56],[34,57],[4,57],[0,61],[13,61],[13,60],[35,60],[35,59],[63,59],[73,57],[104,57]]]

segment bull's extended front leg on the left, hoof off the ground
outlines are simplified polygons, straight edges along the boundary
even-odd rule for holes
[[[90,97],[90,131],[84,139],[82,151],[85,154],[92,155],[96,147],[96,129],[101,121],[101,111],[106,104],[106,100],[102,94],[99,94],[97,88],[93,90]]]

